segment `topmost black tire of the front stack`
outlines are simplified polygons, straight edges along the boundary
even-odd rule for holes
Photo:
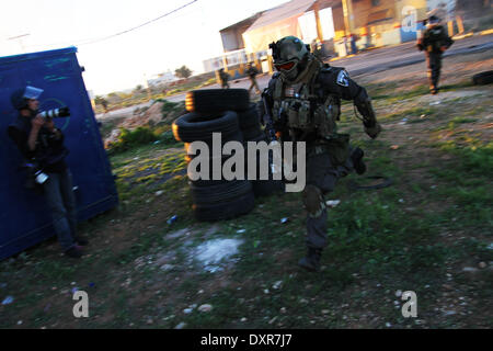
[[[250,107],[246,89],[200,89],[186,93],[185,107],[190,112],[239,111]]]

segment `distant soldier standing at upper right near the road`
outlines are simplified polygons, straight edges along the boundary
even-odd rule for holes
[[[438,93],[438,80],[442,69],[442,55],[448,49],[454,41],[448,36],[445,27],[442,25],[442,19],[438,18],[438,10],[427,13],[425,20],[426,31],[417,39],[416,46],[420,52],[425,52],[427,64],[427,76],[429,80],[429,91],[432,94]]]

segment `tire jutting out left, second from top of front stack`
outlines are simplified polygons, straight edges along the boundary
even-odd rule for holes
[[[240,131],[234,111],[213,114],[186,113],[173,122],[172,129],[174,138],[183,143],[211,141],[213,133],[228,135]]]

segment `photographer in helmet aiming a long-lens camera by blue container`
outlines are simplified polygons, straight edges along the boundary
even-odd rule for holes
[[[41,188],[51,213],[58,241],[68,257],[80,258],[80,246],[88,241],[76,236],[77,207],[71,173],[65,162],[68,149],[64,134],[55,126],[53,117],[68,116],[68,107],[39,112],[37,99],[43,90],[26,87],[14,91],[12,105],[19,111],[9,126],[9,136],[28,161],[34,183]]]

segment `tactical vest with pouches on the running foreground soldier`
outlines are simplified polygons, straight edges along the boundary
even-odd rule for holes
[[[335,122],[341,114],[339,97],[320,97],[314,87],[317,76],[324,69],[318,69],[307,81],[291,84],[279,76],[275,82],[273,118],[274,122],[285,118],[291,136],[296,131],[316,133],[321,139],[335,136]]]

